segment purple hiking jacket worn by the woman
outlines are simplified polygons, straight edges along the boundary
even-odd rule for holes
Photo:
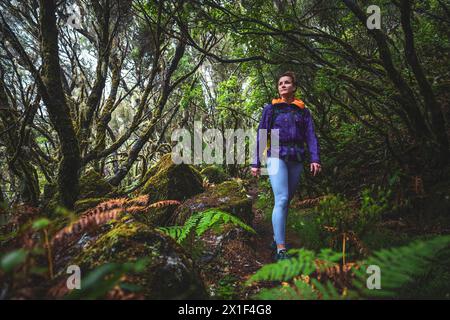
[[[305,159],[304,142],[306,141],[311,162],[320,163],[320,146],[314,131],[314,122],[310,110],[306,107],[300,109],[294,104],[282,102],[266,104],[263,109],[257,130],[256,149],[252,167],[261,167],[260,157],[262,151],[259,150],[259,130],[268,129],[270,127],[275,108],[279,108],[278,111],[282,112],[272,123],[272,129],[279,130],[279,157],[296,160],[298,159],[297,155],[299,154],[301,159]],[[270,156],[271,151],[271,148],[267,150],[268,157]]]

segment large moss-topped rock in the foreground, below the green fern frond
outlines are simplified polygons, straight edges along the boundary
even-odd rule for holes
[[[193,261],[172,238],[137,221],[119,222],[83,250],[73,264],[83,274],[105,263],[148,258],[145,270],[133,274],[132,284],[146,299],[204,299],[207,294]]]

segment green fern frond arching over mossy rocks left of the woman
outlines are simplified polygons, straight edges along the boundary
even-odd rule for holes
[[[158,230],[174,238],[182,244],[191,236],[200,237],[207,230],[217,228],[225,224],[233,224],[242,229],[256,233],[256,231],[242,222],[239,218],[220,210],[209,209],[193,214],[183,226],[160,227]]]

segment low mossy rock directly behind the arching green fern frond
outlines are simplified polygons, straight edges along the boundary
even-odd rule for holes
[[[209,188],[180,205],[170,224],[183,225],[194,213],[215,208],[233,214],[247,224],[253,221],[252,202],[237,180],[230,180]]]

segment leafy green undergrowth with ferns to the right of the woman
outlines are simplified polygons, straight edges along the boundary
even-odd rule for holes
[[[256,206],[269,221],[273,199],[264,194]],[[439,210],[393,214],[404,209],[391,203],[390,193],[380,189],[363,190],[354,200],[333,194],[294,198],[287,228],[301,245],[291,251],[292,261],[266,265],[251,277],[251,285],[276,283],[255,297],[449,299],[450,217]],[[369,265],[381,269],[383,290],[367,290]]]

